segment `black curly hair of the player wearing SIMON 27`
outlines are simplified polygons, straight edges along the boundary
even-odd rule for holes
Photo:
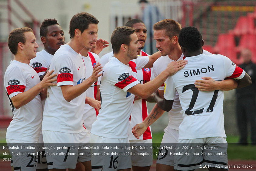
[[[184,27],[181,29],[178,42],[180,46],[193,52],[202,47],[202,35],[196,27]]]

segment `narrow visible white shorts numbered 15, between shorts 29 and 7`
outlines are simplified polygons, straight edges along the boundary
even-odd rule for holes
[[[43,141],[42,131],[40,131],[39,138],[38,138],[38,148],[39,147],[40,147],[40,149],[37,150],[36,169],[47,169],[45,150],[43,149],[43,147],[45,147],[45,145],[44,145],[44,141]]]

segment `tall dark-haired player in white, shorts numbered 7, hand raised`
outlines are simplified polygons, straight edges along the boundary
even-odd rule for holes
[[[70,42],[62,45],[52,58],[50,69],[55,68],[58,73],[58,86],[48,88],[42,122],[45,143],[79,143],[81,147],[87,145],[84,142],[89,142],[89,131],[84,128],[82,117],[85,103],[93,105],[93,102],[90,98],[86,98],[85,90],[101,76],[98,73],[102,67],[97,63],[91,76],[86,78],[85,64],[79,53],[85,47],[91,49],[96,44],[98,22],[89,13],[75,14],[69,25]],[[49,153],[53,151],[47,150]],[[88,154],[87,149],[66,147],[58,152],[67,155],[47,156],[48,169],[74,169],[78,160],[86,170],[91,170],[90,156],[84,155]],[[74,153],[81,155],[78,155],[79,158],[68,155]]]

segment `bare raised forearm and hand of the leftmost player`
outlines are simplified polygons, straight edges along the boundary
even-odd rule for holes
[[[52,83],[54,81],[57,81],[57,78],[54,78],[56,77],[57,74],[52,74],[53,71],[54,70],[48,71],[44,79],[40,83],[36,84],[34,87],[29,89],[28,91],[25,91],[23,93],[18,93],[16,96],[12,97],[11,100],[14,107],[16,109],[19,109],[20,107],[24,106],[25,104],[33,100],[41,92],[42,89],[47,88],[49,86],[56,86],[57,84]]]

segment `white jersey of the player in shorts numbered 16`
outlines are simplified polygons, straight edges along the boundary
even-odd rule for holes
[[[132,67],[132,68],[131,68]],[[101,109],[91,133],[106,138],[128,138],[129,118],[134,95],[127,90],[139,81],[133,66],[112,57],[104,66],[101,78]]]

